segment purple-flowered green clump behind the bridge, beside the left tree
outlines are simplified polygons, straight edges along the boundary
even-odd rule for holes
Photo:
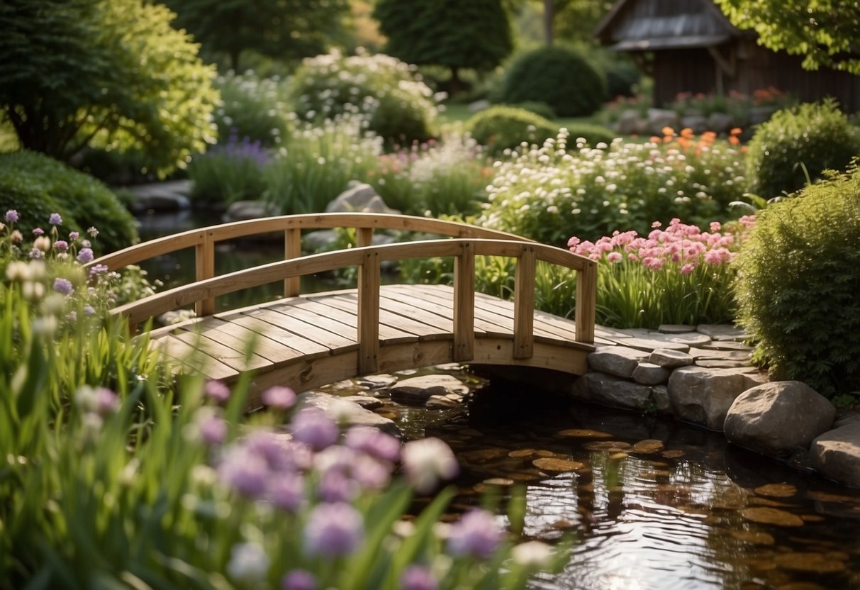
[[[262,170],[270,157],[260,141],[251,142],[236,135],[195,156],[188,166],[194,181],[192,198],[207,206],[223,206],[237,200],[256,200],[266,190]]]

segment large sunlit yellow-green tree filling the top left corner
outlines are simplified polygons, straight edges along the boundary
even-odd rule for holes
[[[202,151],[215,72],[173,16],[142,0],[3,0],[0,108],[22,147],[133,150],[159,174]]]

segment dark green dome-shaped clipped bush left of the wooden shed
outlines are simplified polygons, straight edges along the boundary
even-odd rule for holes
[[[605,98],[604,77],[579,52],[565,47],[521,54],[501,85],[502,102],[546,102],[559,117],[593,114]]]

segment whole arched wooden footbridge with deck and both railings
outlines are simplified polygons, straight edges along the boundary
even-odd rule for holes
[[[302,231],[355,230],[353,247],[302,255]],[[374,230],[444,236],[372,245]],[[215,275],[216,245],[283,234],[285,255]],[[273,384],[303,391],[344,378],[448,362],[531,366],[583,374],[593,351],[597,267],[568,250],[469,224],[372,213],[319,213],[252,219],[189,230],[102,256],[90,265],[119,270],[194,248],[194,282],[112,311],[132,325],[194,305],[196,317],[151,331],[152,345],[191,371],[230,382],[252,371],[252,395]],[[475,256],[516,260],[513,301],[475,292]],[[453,286],[382,285],[383,261],[451,257]],[[534,310],[537,261],[577,273],[574,322]],[[359,269],[358,288],[300,292],[300,277]],[[215,298],[283,281],[283,298],[215,312]],[[252,404],[255,399],[252,398]],[[258,405],[258,404],[257,404]]]

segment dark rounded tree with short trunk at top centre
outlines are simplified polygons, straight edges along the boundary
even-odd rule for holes
[[[501,0],[379,0],[373,15],[388,37],[384,50],[415,65],[492,70],[513,51],[511,26]]]

